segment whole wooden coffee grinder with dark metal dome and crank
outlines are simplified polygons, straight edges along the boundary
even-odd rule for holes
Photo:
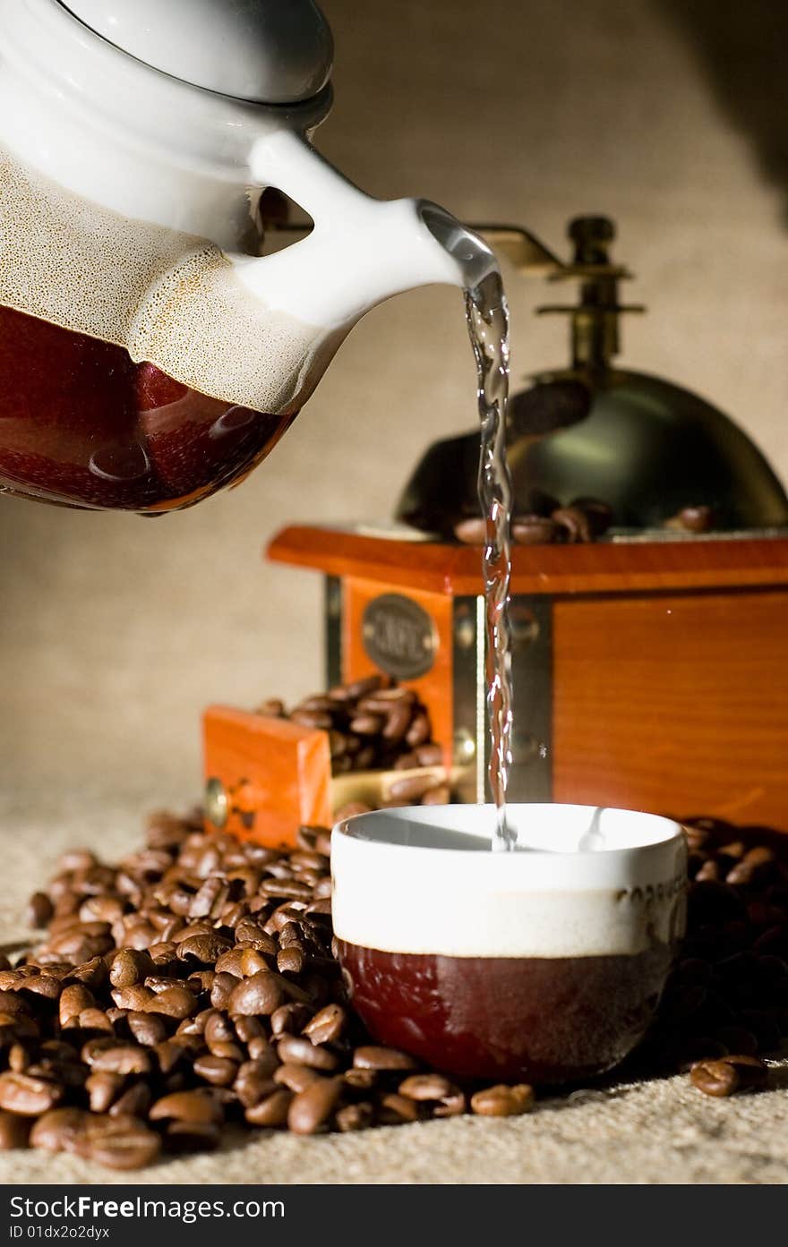
[[[526,524],[525,540],[539,544],[512,552],[511,799],[701,812],[788,831],[781,483],[721,410],[615,363],[621,315],[643,309],[620,302],[631,274],[611,258],[610,219],[572,221],[566,262],[525,229],[481,228],[526,276],[580,287],[576,303],[540,308],[569,317],[569,364],[510,403],[515,514],[546,521]],[[456,534],[479,514],[478,459],[476,429],[439,441],[389,529],[291,525],[267,551],[324,576],[327,686],[379,671],[413,687],[446,772],[471,802],[485,799],[484,597],[480,550]],[[606,531],[556,529],[550,515],[579,500],[597,514],[601,504]],[[249,826],[271,799],[262,762],[271,751],[252,739],[261,722],[239,715],[213,707],[206,720],[214,826],[232,814],[242,778],[238,809]],[[286,748],[300,749],[302,774],[305,748],[300,739]],[[322,796],[307,799],[297,783],[298,814],[329,819],[327,746],[312,774]],[[266,838],[264,816],[261,827]]]

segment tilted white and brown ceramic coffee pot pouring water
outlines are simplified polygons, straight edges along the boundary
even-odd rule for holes
[[[268,454],[364,312],[492,263],[314,152],[312,0],[0,0],[0,491],[193,504]],[[261,256],[267,187],[314,226]]]

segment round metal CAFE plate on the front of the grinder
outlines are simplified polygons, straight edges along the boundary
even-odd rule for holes
[[[403,594],[382,594],[368,604],[362,642],[369,658],[395,680],[415,680],[435,662],[438,632],[428,612]]]

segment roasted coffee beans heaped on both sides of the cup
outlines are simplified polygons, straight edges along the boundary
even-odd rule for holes
[[[216,1147],[222,1130],[362,1130],[527,1112],[526,1085],[460,1085],[370,1041],[330,924],[329,834],[291,852],[152,816],[117,865],[75,849],[30,902],[45,941],[0,968],[0,1147],[115,1168]],[[788,852],[697,819],[690,927],[640,1074],[729,1095],[788,1035]]]

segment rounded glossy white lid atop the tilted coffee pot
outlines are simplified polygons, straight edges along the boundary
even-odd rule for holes
[[[258,104],[325,86],[333,40],[313,0],[64,0],[122,51],[172,77]]]

